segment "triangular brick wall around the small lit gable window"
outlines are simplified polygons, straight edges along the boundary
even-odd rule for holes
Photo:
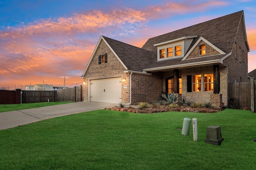
[[[204,55],[199,55],[199,45],[204,45],[205,44],[205,54]],[[194,59],[197,57],[205,57],[205,56],[211,56],[211,55],[218,55],[220,54],[216,49],[212,48],[210,45],[205,43],[204,41],[200,41],[198,45],[195,47],[195,49],[190,53],[190,55],[187,57],[187,59]]]

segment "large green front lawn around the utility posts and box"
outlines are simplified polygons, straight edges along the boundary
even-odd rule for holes
[[[198,141],[183,136],[184,117],[198,119]],[[0,131],[0,169],[254,170],[256,114],[153,114],[96,110]],[[221,126],[220,146],[204,143],[206,127]]]

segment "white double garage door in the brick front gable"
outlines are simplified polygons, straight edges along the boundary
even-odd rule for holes
[[[121,77],[90,80],[91,102],[119,103],[121,97]]]

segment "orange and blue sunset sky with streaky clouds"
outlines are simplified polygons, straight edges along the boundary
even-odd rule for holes
[[[82,85],[100,35],[137,47],[148,38],[244,10],[256,69],[255,0],[0,0],[0,88]]]

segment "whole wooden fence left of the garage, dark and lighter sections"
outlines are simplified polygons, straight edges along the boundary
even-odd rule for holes
[[[64,88],[53,91],[24,90],[22,91],[22,103],[32,102],[82,102],[84,101],[82,86]]]

